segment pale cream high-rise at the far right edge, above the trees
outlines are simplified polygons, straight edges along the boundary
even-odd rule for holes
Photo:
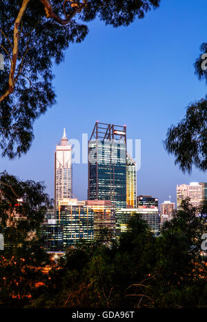
[[[191,182],[177,185],[177,209],[181,209],[181,202],[190,198],[190,204],[199,207],[204,200],[207,200],[207,184],[204,182]]]

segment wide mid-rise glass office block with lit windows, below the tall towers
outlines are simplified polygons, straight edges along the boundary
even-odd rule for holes
[[[59,203],[57,225],[63,230],[63,249],[74,246],[81,240],[91,242],[99,236],[100,229],[115,233],[115,207],[110,200],[68,199]]]

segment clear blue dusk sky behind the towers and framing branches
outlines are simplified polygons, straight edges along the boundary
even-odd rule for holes
[[[99,120],[127,125],[128,138],[141,139],[137,193],[172,196],[176,185],[207,181],[193,169],[184,175],[162,145],[170,125],[184,117],[189,102],[206,95],[194,74],[199,46],[206,42],[206,0],[162,0],[161,7],[127,28],[101,21],[88,24],[90,33],[72,44],[54,66],[57,104],[34,124],[34,141],[21,159],[1,159],[0,170],[21,179],[45,181],[53,197],[55,145],[66,127],[68,138],[81,140]],[[87,198],[88,167],[73,166],[73,190]]]

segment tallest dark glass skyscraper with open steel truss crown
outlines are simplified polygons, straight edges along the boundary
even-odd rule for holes
[[[126,126],[95,123],[88,154],[88,199],[126,208]]]

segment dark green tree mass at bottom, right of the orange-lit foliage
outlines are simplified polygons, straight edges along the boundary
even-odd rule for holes
[[[102,235],[68,249],[28,307],[206,307],[205,222],[196,213],[186,200],[158,237],[135,215],[110,246]]]

